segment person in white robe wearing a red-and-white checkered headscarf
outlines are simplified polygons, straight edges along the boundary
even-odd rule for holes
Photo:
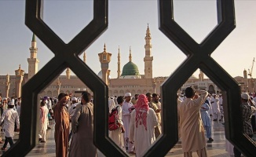
[[[144,94],[139,95],[135,109],[130,115],[129,140],[134,142],[136,156],[143,156],[145,151],[155,141],[155,126],[159,121],[155,111],[148,106],[148,99]]]

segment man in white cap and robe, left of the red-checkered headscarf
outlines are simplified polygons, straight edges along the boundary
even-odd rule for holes
[[[131,93],[126,93],[124,95],[125,101],[123,102],[122,106],[122,119],[123,119],[123,127],[126,130],[124,133],[125,138],[125,147],[126,151],[129,153],[133,153],[133,144],[129,142],[129,126],[130,126],[130,108],[133,106],[133,103],[131,103]]]

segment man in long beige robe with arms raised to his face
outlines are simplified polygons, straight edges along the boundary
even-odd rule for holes
[[[199,94],[201,96],[199,96]],[[185,157],[192,157],[192,152],[197,152],[199,157],[206,157],[206,141],[203,122],[200,115],[201,104],[207,99],[207,91],[192,89],[185,90],[187,97],[179,105],[181,125],[181,145]]]

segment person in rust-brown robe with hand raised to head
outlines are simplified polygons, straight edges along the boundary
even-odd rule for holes
[[[56,144],[56,156],[66,157],[68,155],[68,134],[69,134],[69,114],[67,108],[68,94],[60,93],[58,103],[54,108]]]

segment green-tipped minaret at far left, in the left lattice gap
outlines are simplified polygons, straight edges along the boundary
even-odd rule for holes
[[[27,58],[28,63],[28,79],[31,79],[38,72],[38,63],[37,59],[38,48],[36,47],[35,34],[33,34],[31,41],[30,58]]]

